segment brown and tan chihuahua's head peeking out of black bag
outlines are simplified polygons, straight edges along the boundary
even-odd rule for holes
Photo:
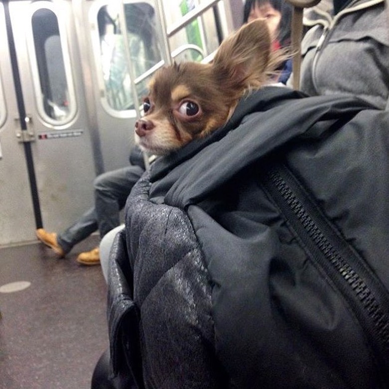
[[[143,102],[145,116],[135,124],[141,148],[166,155],[223,126],[239,100],[269,82],[285,59],[271,46],[266,22],[257,19],[223,40],[211,63],[158,70]]]

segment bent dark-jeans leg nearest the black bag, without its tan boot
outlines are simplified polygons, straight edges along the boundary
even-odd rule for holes
[[[143,173],[141,167],[129,166],[96,178],[95,207],[101,237],[120,224],[119,212]]]

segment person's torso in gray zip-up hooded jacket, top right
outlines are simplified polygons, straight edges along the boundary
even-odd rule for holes
[[[357,95],[378,108],[389,95],[389,20],[384,0],[333,0],[306,9],[300,90]],[[292,86],[292,77],[288,86]]]

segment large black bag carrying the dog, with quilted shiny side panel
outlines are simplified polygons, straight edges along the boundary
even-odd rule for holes
[[[388,113],[358,99],[268,87],[155,163],[110,269],[109,311],[124,298],[139,312],[133,325],[110,317],[111,334],[139,334],[139,387],[388,387],[387,131]],[[327,269],[320,233],[352,254],[371,305],[366,285]]]

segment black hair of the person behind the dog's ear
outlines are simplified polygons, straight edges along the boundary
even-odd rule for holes
[[[281,13],[281,21],[278,27],[278,40],[281,47],[289,46],[293,7],[286,0],[246,0],[243,8],[243,23],[247,23],[248,16],[255,4],[264,5],[267,3]]]

